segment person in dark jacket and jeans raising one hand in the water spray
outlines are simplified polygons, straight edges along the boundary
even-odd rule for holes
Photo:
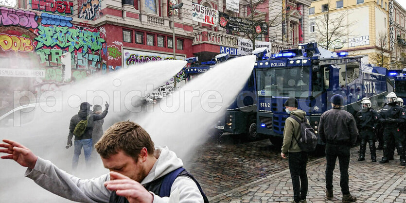
[[[92,133],[93,133],[93,125],[95,120],[100,120],[106,117],[107,111],[108,111],[108,103],[106,102],[106,109],[101,113],[100,115],[98,114],[92,114],[90,113],[90,106],[88,102],[82,102],[80,104],[80,110],[78,114],[74,115],[71,118],[71,124],[69,125],[69,135],[68,135],[68,145],[72,145],[72,137],[73,137],[73,131],[75,130],[76,125],[79,123],[81,120],[86,120],[88,118],[88,126],[81,136],[76,136],[75,135],[75,142],[74,142],[74,154],[73,154],[73,160],[72,160],[72,169],[77,168],[77,163],[79,161],[79,155],[82,151],[85,153],[85,161],[86,161],[86,166],[89,167],[90,165],[90,154],[91,154],[91,149],[92,149]]]

